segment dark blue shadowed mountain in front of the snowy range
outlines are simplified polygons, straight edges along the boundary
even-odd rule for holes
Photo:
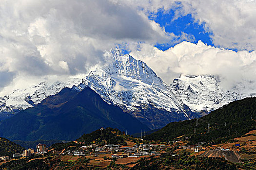
[[[0,122],[0,135],[12,140],[74,140],[101,127],[128,133],[149,128],[117,106],[104,102],[89,87],[64,88],[33,108]]]

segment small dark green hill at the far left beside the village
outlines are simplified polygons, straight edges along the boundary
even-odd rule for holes
[[[0,156],[11,156],[13,153],[21,153],[24,148],[20,145],[0,137]]]

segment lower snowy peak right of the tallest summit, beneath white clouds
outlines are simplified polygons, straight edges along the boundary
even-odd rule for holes
[[[239,89],[224,90],[221,80],[214,75],[181,75],[170,87],[180,104],[188,106],[192,112],[209,113],[242,99]]]

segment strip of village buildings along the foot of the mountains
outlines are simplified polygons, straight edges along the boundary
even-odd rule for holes
[[[76,141],[74,141],[76,142]],[[29,148],[24,150],[22,153],[14,153],[12,155],[13,158],[17,157],[29,157],[34,154],[45,154],[47,152],[61,154],[61,155],[74,155],[74,156],[93,156],[98,157],[99,155],[111,155],[111,158],[126,158],[126,157],[140,157],[145,155],[155,155],[159,156],[160,153],[164,152],[168,147],[176,146],[177,150],[191,150],[192,152],[198,153],[206,150],[219,150],[219,151],[229,151],[229,149],[223,149],[221,147],[216,148],[206,148],[202,145],[206,142],[200,142],[196,145],[188,145],[184,146],[184,143],[181,139],[169,141],[168,144],[151,144],[151,143],[131,143],[135,145],[130,146],[119,146],[117,144],[108,144],[99,146],[96,144],[84,145],[81,146],[78,150],[72,149],[73,147],[69,147],[70,150],[62,150],[56,151],[55,149],[47,150],[45,144],[38,144],[36,152],[34,149]],[[170,145],[171,144],[171,145]],[[240,146],[236,144],[236,146]],[[175,156],[176,154],[173,154]],[[0,160],[9,160],[9,156],[0,156]]]

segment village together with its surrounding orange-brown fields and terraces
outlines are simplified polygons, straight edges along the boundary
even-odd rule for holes
[[[255,148],[255,134],[252,131],[244,137],[235,138],[231,143],[223,143],[217,145],[207,145],[206,142],[198,142],[197,144],[189,143],[189,138],[179,136],[168,142],[151,141],[149,143],[141,138],[135,138],[127,135],[118,135],[113,130],[111,134],[114,137],[126,137],[123,141],[113,144],[106,144],[103,140],[91,140],[85,144],[84,140],[74,140],[69,142],[57,143],[49,148],[45,144],[39,143],[36,150],[29,148],[23,150],[22,153],[14,153],[12,156],[0,156],[1,162],[7,162],[12,159],[23,158],[40,158],[40,157],[60,157],[63,162],[74,162],[80,159],[88,160],[91,166],[107,167],[111,162],[126,165],[129,167],[135,166],[141,159],[149,159],[150,157],[161,158],[168,155],[176,159],[176,157],[186,153],[189,156],[198,157],[222,157],[229,162],[240,163],[241,157],[246,157],[246,154],[240,154],[239,151]],[[99,136],[102,136],[99,131]],[[87,135],[87,137],[90,137]],[[104,144],[103,144],[104,143]],[[110,143],[110,142],[108,142]]]

